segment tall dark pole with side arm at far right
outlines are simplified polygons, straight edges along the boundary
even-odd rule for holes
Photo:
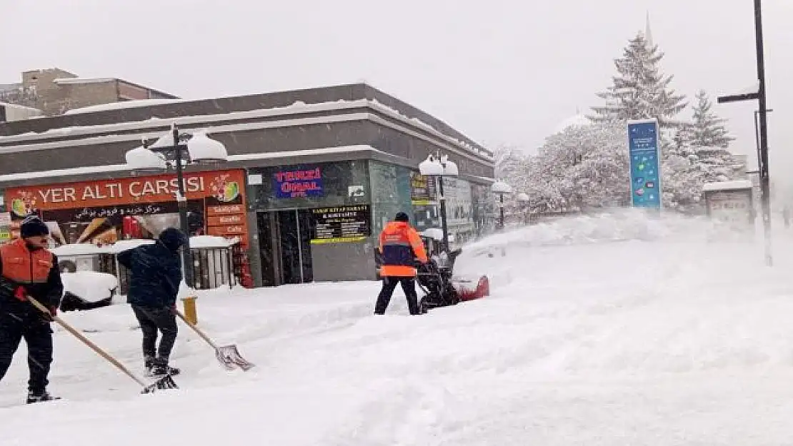
[[[771,266],[771,181],[768,175],[768,108],[765,95],[765,55],[763,48],[763,15],[760,0],[754,0],[754,33],[757,51],[757,91],[718,97],[718,103],[757,99],[760,117],[760,190],[762,191],[765,263]]]

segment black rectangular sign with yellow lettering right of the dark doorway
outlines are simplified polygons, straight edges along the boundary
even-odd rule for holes
[[[372,234],[368,204],[311,210],[312,244],[361,242]]]

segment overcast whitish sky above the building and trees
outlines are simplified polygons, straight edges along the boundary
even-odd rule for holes
[[[647,11],[692,100],[757,78],[753,0],[0,0],[0,83],[59,67],[198,98],[366,80],[481,143],[534,150],[598,103]],[[764,0],[777,181],[793,166],[791,19],[791,0]],[[737,153],[754,153],[756,108],[717,105]]]

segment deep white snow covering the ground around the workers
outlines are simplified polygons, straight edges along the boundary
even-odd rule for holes
[[[258,364],[224,372],[181,327],[182,387],[138,387],[56,329],[51,390],[0,382],[3,446],[793,444],[793,239],[727,239],[635,213],[565,219],[465,250],[492,295],[371,314],[376,283],[214,292],[201,326]],[[502,255],[504,254],[504,255]],[[491,257],[492,256],[492,257]],[[63,317],[136,371],[126,305]],[[96,330],[96,332],[94,332]]]

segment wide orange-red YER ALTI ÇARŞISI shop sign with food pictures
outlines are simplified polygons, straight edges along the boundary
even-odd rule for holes
[[[192,234],[239,237],[247,245],[244,181],[243,170],[185,173],[187,210],[196,218]],[[129,230],[130,219],[140,220],[137,226],[147,231],[153,227],[144,222],[178,224],[177,190],[172,173],[6,189],[11,236],[18,232],[14,223],[18,226],[19,220],[36,214],[52,227],[59,244],[137,238],[139,231]]]

